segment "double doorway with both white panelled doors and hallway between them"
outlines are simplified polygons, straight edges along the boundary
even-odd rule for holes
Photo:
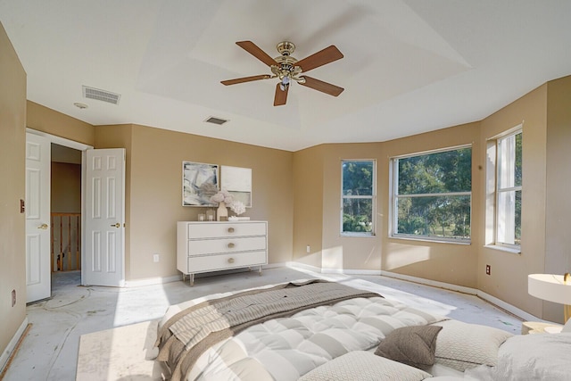
[[[95,150],[29,128],[26,145],[27,302],[50,297],[54,274],[73,274],[70,286],[125,286],[125,148]],[[53,222],[52,212],[79,218]]]

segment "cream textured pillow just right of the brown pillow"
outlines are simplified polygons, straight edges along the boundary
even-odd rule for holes
[[[495,366],[500,345],[513,336],[498,328],[459,320],[446,320],[433,325],[443,327],[436,337],[434,362],[461,372],[479,365]]]

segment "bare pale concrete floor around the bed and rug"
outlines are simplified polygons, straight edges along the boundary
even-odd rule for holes
[[[498,327],[518,334],[521,320],[474,295],[421,286],[390,277],[322,275],[279,268],[197,277],[188,282],[113,288],[79,286],[79,272],[54,274],[52,298],[27,307],[28,335],[4,376],[5,381],[74,380],[79,336],[151,319],[160,319],[170,304],[206,294],[235,291],[289,280],[325,277],[349,286],[369,288],[387,299],[398,299],[468,323]]]

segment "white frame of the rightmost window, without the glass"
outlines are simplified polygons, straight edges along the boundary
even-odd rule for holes
[[[522,175],[522,184],[519,186],[503,186],[501,187],[501,181],[500,181],[500,177],[501,177],[501,142],[505,141],[506,139],[510,138],[510,137],[516,137],[517,135],[521,134],[521,139],[522,139],[522,159],[523,159],[523,139],[524,139],[524,129],[522,125],[517,126],[516,128],[510,128],[508,131],[506,131],[504,134],[502,134],[501,136],[498,137],[494,137],[494,145],[495,145],[495,153],[496,153],[496,157],[495,157],[495,184],[494,184],[494,210],[493,210],[493,244],[503,250],[509,251],[509,252],[514,252],[514,253],[520,253],[521,252],[521,236],[520,236],[520,244],[509,244],[509,243],[505,243],[505,242],[501,242],[500,240],[500,219],[502,218],[501,216],[501,209],[500,209],[500,197],[501,194],[504,193],[508,193],[508,192],[519,192],[520,197],[523,194],[523,175]],[[523,163],[522,163],[522,174],[523,174]],[[514,212],[514,225],[515,225],[515,218],[516,218],[516,214]],[[521,222],[520,222],[521,223]],[[521,228],[521,226],[520,226]],[[514,241],[516,239],[515,236],[515,232],[514,232]]]

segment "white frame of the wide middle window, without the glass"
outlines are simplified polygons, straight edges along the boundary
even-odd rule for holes
[[[418,153],[407,153],[404,155],[393,156],[390,158],[389,170],[391,181],[390,186],[390,219],[389,219],[389,237],[394,239],[405,239],[414,241],[427,241],[427,242],[440,242],[446,244],[471,244],[472,243],[472,186],[470,185],[469,191],[460,192],[447,192],[447,193],[435,193],[435,194],[411,194],[411,195],[400,195],[399,194],[399,160],[408,159],[411,157],[423,156],[433,153],[445,153],[451,151],[458,151],[460,149],[469,148],[470,152],[473,153],[473,145],[453,145],[444,148],[438,148],[429,151],[422,151]],[[472,167],[473,167],[474,157],[472,156],[472,162],[470,164],[470,177],[473,178]],[[399,209],[398,201],[402,198],[418,198],[418,197],[442,197],[442,196],[469,196],[469,215],[470,215],[470,236],[468,238],[454,238],[445,236],[418,236],[412,234],[398,233],[399,227]]]

